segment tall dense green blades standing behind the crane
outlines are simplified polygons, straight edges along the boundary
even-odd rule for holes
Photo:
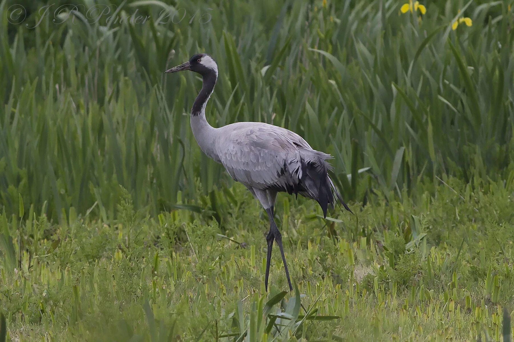
[[[35,25],[46,5],[35,2],[23,23],[10,24],[13,2],[0,5],[8,214],[21,194],[52,218],[107,219],[119,185],[153,214],[173,209],[179,192],[185,200],[211,193],[204,204],[216,212],[224,195],[212,190],[230,180],[189,128],[200,81],[162,74],[196,52],[219,65],[211,124],[255,120],[298,132],[335,156],[350,200],[370,189],[410,193],[442,174],[514,178],[512,1],[426,2],[420,19],[400,14],[401,1],[104,3],[120,17],[137,9],[152,19],[86,24],[82,11]],[[175,22],[186,14],[156,23],[163,9],[177,11]],[[459,10],[473,26],[453,31]],[[364,167],[370,172],[359,174]]]

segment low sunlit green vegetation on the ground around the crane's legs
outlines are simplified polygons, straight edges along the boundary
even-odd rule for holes
[[[142,217],[129,197],[111,225],[51,225],[31,212],[19,226],[4,215],[4,234],[23,242],[21,268],[14,244],[14,265],[4,258],[0,274],[8,336],[502,340],[503,314],[514,308],[514,187],[445,183],[418,205],[376,197],[353,206],[355,216],[336,210],[326,220],[313,203],[279,196],[296,294],[281,293],[277,253],[264,292],[267,216],[240,185],[227,190],[237,200],[222,227],[183,210]]]

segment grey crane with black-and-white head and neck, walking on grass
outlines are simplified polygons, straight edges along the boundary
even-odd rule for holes
[[[268,214],[266,291],[273,240],[279,245],[289,290],[292,290],[282,235],[273,219],[273,205],[278,192],[300,194],[316,200],[326,217],[328,205],[334,208],[335,195],[344,208],[352,212],[327,174],[331,166],[326,160],[331,155],[314,150],[300,135],[278,126],[241,122],[212,127],[205,117],[205,107],[218,76],[216,62],[210,55],[200,53],[164,72],[182,70],[194,71],[203,78],[203,86],[191,109],[191,129],[198,146],[206,155],[223,164],[234,180],[243,183]]]

